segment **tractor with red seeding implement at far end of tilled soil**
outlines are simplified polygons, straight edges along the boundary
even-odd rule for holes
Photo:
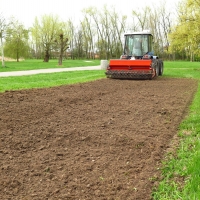
[[[153,36],[150,32],[127,33],[123,55],[111,59],[105,72],[108,78],[153,79],[163,74],[163,61],[152,51]]]

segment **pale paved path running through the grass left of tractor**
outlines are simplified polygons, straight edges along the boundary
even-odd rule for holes
[[[27,70],[27,71],[15,71],[15,72],[0,72],[0,77],[25,76],[25,75],[46,74],[46,73],[65,72],[65,71],[100,70],[100,69],[101,66],[37,69],[37,70]]]

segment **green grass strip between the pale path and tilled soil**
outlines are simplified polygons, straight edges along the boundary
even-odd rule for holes
[[[74,72],[58,72],[31,76],[0,78],[0,92],[31,88],[48,88],[53,86],[83,83],[105,78],[104,70],[87,70]]]

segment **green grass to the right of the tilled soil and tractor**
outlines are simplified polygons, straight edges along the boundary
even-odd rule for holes
[[[168,62],[165,76],[200,80],[200,64]],[[200,83],[189,116],[180,124],[179,146],[163,161],[162,181],[152,194],[154,200],[200,199]]]

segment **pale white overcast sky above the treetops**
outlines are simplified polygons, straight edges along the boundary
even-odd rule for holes
[[[79,21],[84,8],[103,6],[115,8],[121,14],[131,14],[136,8],[159,6],[165,2],[167,9],[175,10],[181,0],[0,0],[0,14],[6,19],[14,16],[26,28],[32,26],[35,17],[39,19],[44,14],[55,14],[61,20]]]

